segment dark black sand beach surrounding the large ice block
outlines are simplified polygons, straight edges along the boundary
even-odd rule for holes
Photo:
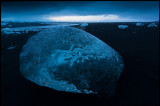
[[[118,25],[128,25],[119,29]],[[1,35],[2,106],[87,106],[159,104],[159,24],[89,23],[84,29],[114,48],[125,67],[111,98],[58,92],[25,79],[19,70],[19,54],[28,38],[35,34]],[[78,27],[78,26],[77,26]],[[16,48],[8,50],[10,45]]]

